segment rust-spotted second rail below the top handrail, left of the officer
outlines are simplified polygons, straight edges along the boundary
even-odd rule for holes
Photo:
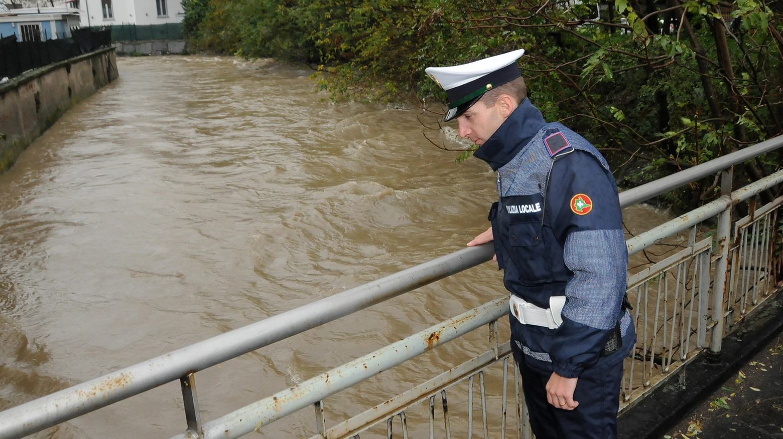
[[[232,439],[251,433],[338,391],[374,377],[438,345],[493,322],[508,312],[508,299],[496,298],[459,316],[389,344],[329,372],[279,391],[203,425],[203,439]],[[187,433],[171,439],[187,439]]]

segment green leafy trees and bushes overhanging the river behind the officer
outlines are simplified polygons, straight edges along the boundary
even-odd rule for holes
[[[583,134],[633,186],[783,133],[783,0],[183,0],[204,51],[305,62],[333,98],[442,112],[424,76],[525,48],[531,101]],[[735,170],[735,186],[781,167]],[[671,195],[719,194],[709,178]],[[764,198],[774,196],[768,191]]]

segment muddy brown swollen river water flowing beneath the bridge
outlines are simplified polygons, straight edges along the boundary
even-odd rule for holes
[[[424,137],[464,147],[428,128],[437,116],[331,104],[302,66],[117,64],[119,80],[0,176],[0,409],[456,251],[488,226],[495,176]],[[634,209],[634,232],[665,217]],[[500,295],[500,273],[483,264],[197,373],[202,419]],[[327,419],[381,402],[411,373],[485,351],[485,334],[444,348],[336,398]],[[184,429],[175,382],[38,437]],[[313,433],[312,410],[262,430]]]

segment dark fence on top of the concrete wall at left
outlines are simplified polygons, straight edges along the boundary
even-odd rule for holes
[[[16,35],[0,39],[0,78],[16,77],[111,44],[109,30],[74,29],[71,35],[47,41],[16,41]]]

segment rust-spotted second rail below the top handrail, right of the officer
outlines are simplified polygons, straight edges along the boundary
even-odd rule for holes
[[[698,209],[691,210],[683,216],[667,221],[658,227],[654,227],[642,234],[631,237],[626,241],[628,255],[641,252],[651,245],[658,244],[665,237],[672,236],[683,230],[687,230],[711,216],[716,216],[721,211],[727,209],[730,205],[743,202],[752,196],[758,195],[761,191],[768,189],[775,184],[783,182],[783,170],[770,174],[761,180],[757,180],[745,187],[731,192],[731,198],[727,196],[720,197],[709,202]]]

